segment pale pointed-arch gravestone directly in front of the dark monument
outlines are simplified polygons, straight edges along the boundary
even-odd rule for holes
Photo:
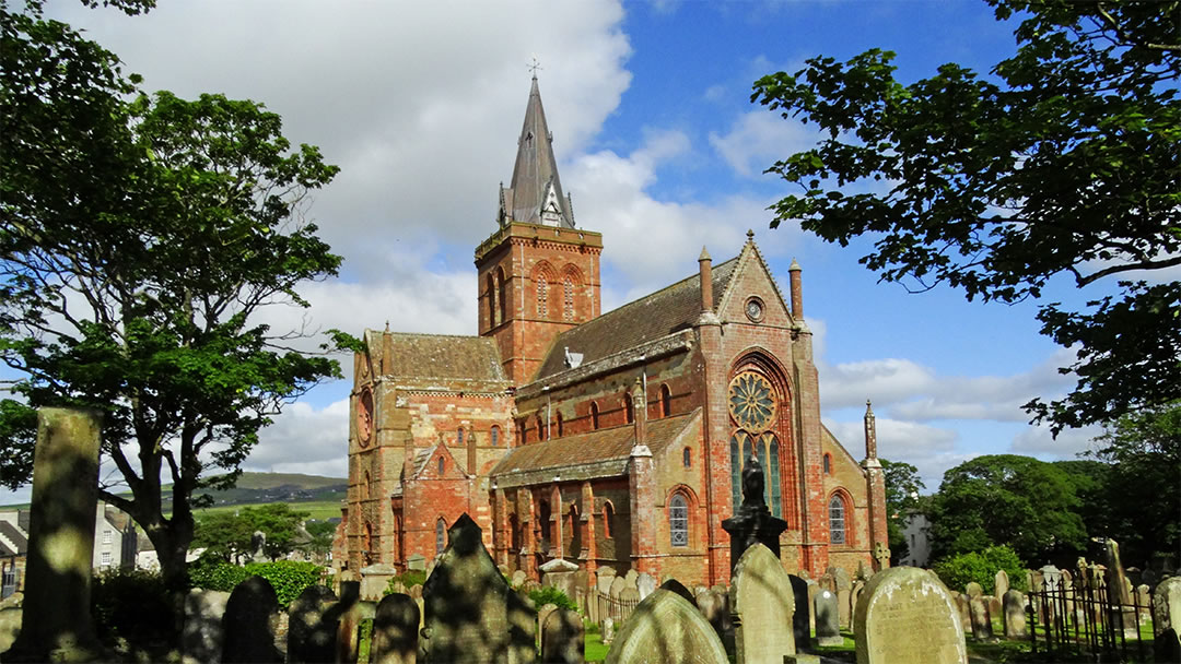
[[[796,653],[795,593],[779,559],[762,544],[746,548],[733,567],[730,612],[739,664],[783,662]]]

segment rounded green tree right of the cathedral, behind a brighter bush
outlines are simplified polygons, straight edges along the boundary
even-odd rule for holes
[[[931,505],[935,558],[1009,545],[1031,564],[1087,551],[1075,484],[1031,456],[977,456],[944,473]]]

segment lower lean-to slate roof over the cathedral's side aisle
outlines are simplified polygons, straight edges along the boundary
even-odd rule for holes
[[[647,446],[652,454],[659,455],[691,430],[699,422],[700,413],[702,409],[697,408],[684,415],[648,420]],[[634,425],[535,442],[509,451],[489,475],[504,487],[548,481],[555,471],[574,467],[581,467],[586,478],[622,475],[634,442]],[[588,466],[595,465],[596,468],[587,472]],[[530,474],[534,476],[530,478]]]

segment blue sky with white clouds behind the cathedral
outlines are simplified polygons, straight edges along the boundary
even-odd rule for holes
[[[782,284],[792,258],[803,268],[822,418],[855,458],[867,399],[880,456],[916,466],[928,491],[973,456],[1071,459],[1098,433],[1053,440],[1020,409],[1074,384],[1057,372],[1072,354],[1038,335],[1036,304],[908,294],[859,264],[868,241],[769,228],[768,206],[795,190],[764,169],[816,134],[751,104],[752,81],[874,47],[898,53],[903,81],[948,61],[986,74],[1016,25],[981,0],[159,0],[141,17],[58,0],[50,13],[144,88],[262,101],[293,143],[340,166],[308,218],[341,275],[301,289],[311,309],[269,311],[276,329],[476,334],[474,249],[496,230],[536,59],[575,222],[602,232],[603,310],[694,274],[703,245],[735,256],[753,229]],[[243,468],[345,476],[350,386],[289,406]]]

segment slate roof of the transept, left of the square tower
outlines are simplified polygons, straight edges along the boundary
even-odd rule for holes
[[[381,353],[381,334],[367,335],[372,353]],[[409,333],[390,337],[390,373],[399,379],[508,381],[491,337]]]

